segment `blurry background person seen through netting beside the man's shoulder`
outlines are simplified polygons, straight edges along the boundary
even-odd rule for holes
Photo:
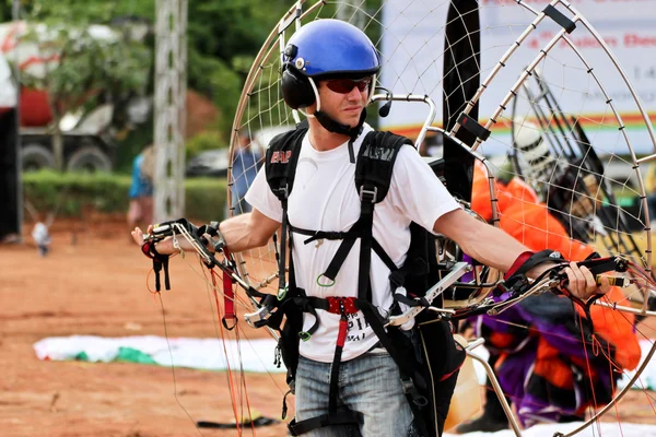
[[[235,214],[250,212],[251,206],[246,202],[245,196],[248,187],[253,185],[261,164],[260,151],[251,145],[248,132],[239,132],[238,147],[235,147],[232,156],[232,181],[231,208]]]

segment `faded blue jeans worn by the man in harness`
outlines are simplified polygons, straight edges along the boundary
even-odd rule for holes
[[[296,422],[328,414],[330,364],[298,359]],[[387,352],[366,353],[339,368],[338,405],[360,412],[364,423],[314,429],[304,437],[406,437],[414,435],[412,412],[399,369]]]

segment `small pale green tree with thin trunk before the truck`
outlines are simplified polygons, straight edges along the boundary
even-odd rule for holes
[[[152,52],[129,34],[93,24],[109,17],[104,3],[70,0],[31,1],[24,5],[26,32],[21,45],[30,46],[43,69],[24,70],[22,85],[48,93],[52,114],[52,151],[63,169],[62,117],[97,99],[115,102],[121,95],[145,93]]]

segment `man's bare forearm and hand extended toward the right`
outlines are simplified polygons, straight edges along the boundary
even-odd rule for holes
[[[464,210],[454,210],[435,221],[433,232],[443,234],[454,240],[462,251],[477,261],[494,269],[507,272],[517,257],[529,250],[526,246],[503,231],[476,220]],[[527,272],[527,276],[537,277],[551,265],[536,265]],[[610,285],[607,277],[601,285],[586,267],[571,262],[564,269],[567,275],[567,290],[576,297],[587,300],[593,294],[607,293]]]

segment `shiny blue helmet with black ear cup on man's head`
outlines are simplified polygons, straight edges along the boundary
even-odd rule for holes
[[[312,79],[359,79],[378,70],[376,48],[361,29],[341,20],[316,20],[292,35],[285,47],[282,96],[291,108],[303,108],[316,101]]]

